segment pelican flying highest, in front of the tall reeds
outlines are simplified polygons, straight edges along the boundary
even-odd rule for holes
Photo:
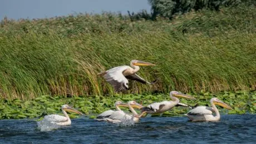
[[[114,86],[114,90],[116,92],[129,89],[129,82],[127,79],[136,80],[143,84],[154,84],[156,82],[155,80],[150,83],[136,74],[136,72],[140,70],[139,66],[149,66],[155,64],[147,63],[140,60],[131,60],[130,65],[131,67],[127,65],[116,66],[115,68],[101,72],[98,75],[104,75],[106,81]]]

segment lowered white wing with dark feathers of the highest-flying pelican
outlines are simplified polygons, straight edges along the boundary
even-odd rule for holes
[[[107,82],[109,82],[112,86],[114,86],[114,89],[116,92],[127,90],[124,84],[125,83],[128,84],[128,80],[125,78],[122,72],[129,68],[130,66],[123,65],[123,66],[117,66],[115,68],[112,68],[106,71],[104,78],[106,79]]]

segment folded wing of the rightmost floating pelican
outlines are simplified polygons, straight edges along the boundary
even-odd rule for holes
[[[215,112],[213,107],[209,106],[198,106],[188,112],[189,115],[211,115]]]

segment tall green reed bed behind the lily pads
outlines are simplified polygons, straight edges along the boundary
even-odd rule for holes
[[[8,20],[0,28],[0,97],[113,95],[96,74],[139,59],[154,85],[135,94],[238,91],[256,88],[256,8],[191,12],[174,20],[132,22],[101,14]]]

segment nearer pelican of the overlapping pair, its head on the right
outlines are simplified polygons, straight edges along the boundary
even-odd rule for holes
[[[109,117],[104,117],[105,121],[112,122],[112,123],[120,123],[123,121],[133,121],[138,122],[140,117],[137,117],[137,112],[134,110],[133,107],[140,109],[143,107],[142,105],[138,104],[136,101],[129,101],[128,107],[132,112],[132,115],[126,114],[124,111],[114,111]]]

